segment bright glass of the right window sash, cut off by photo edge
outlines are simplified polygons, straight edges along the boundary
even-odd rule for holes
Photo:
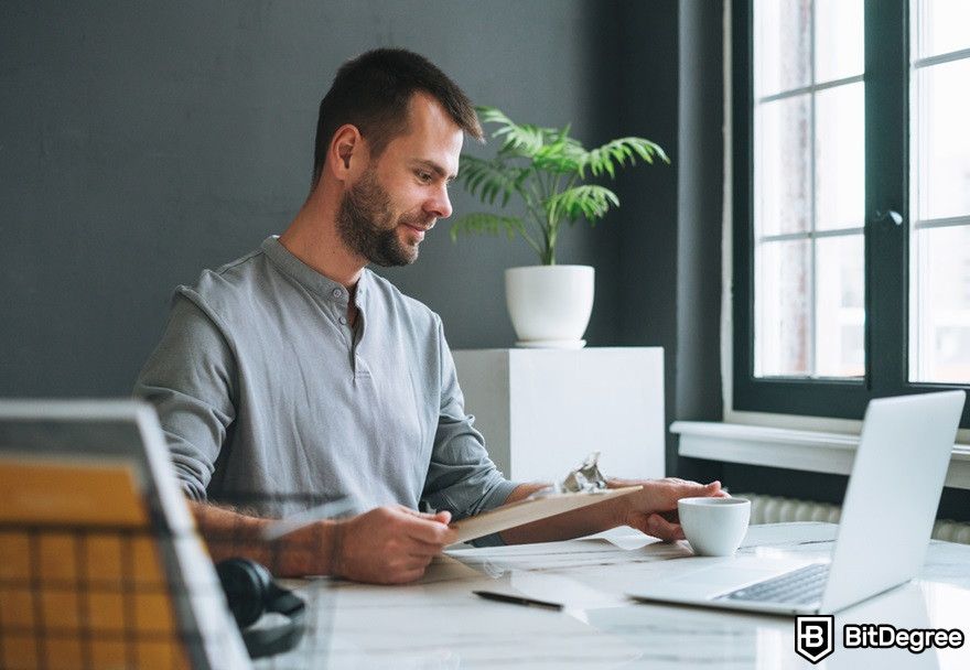
[[[909,379],[970,382],[970,1],[910,3]]]

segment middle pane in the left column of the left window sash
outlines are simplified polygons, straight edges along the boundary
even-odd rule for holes
[[[755,235],[811,227],[809,96],[759,105],[755,112]]]

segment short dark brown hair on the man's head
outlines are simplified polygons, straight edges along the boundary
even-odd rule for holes
[[[462,130],[484,140],[471,100],[433,63],[403,48],[375,48],[344,63],[320,102],[313,185],[320,181],[337,128],[356,126],[378,156],[394,138],[407,131],[408,104],[418,91],[438,100]]]

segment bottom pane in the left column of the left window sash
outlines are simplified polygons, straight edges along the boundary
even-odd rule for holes
[[[755,287],[755,376],[808,375],[811,242],[758,245]]]

